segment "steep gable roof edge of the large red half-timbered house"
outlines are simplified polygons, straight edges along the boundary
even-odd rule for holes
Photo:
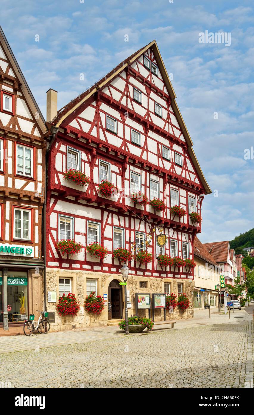
[[[209,185],[208,185],[208,183],[207,183],[207,181],[204,177],[204,174],[201,170],[199,162],[198,162],[198,160],[196,158],[196,155],[195,155],[195,153],[192,149],[193,142],[192,142],[192,139],[191,139],[191,137],[189,135],[189,132],[186,128],[185,122],[182,118],[182,115],[181,115],[180,110],[177,106],[177,103],[175,101],[175,98],[176,98],[175,91],[174,91],[173,86],[170,82],[170,78],[168,76],[165,65],[163,63],[163,60],[162,60],[160,51],[158,49],[156,40],[151,41],[149,44],[144,46],[144,48],[139,49],[137,52],[135,52],[134,54],[132,54],[131,56],[126,58],[119,65],[117,65],[112,71],[107,73],[107,75],[105,75],[99,81],[94,83],[90,88],[88,88],[83,93],[78,95],[76,98],[74,98],[74,100],[70,101],[67,105],[62,107],[58,111],[58,115],[55,118],[53,118],[53,120],[51,120],[50,123],[52,125],[54,125],[55,127],[60,127],[60,125],[62,124],[62,122],[64,122],[64,120],[68,117],[68,115],[70,115],[72,112],[77,110],[77,108],[80,107],[80,105],[82,105],[88,98],[90,98],[99,89],[103,89],[103,87],[109,81],[111,81],[113,78],[118,76],[128,65],[130,65],[131,63],[136,61],[139,58],[139,56],[144,54],[150,48],[153,51],[153,54],[156,58],[156,63],[159,67],[159,70],[160,70],[161,75],[163,77],[163,81],[164,81],[164,83],[166,85],[166,88],[168,90],[168,94],[169,94],[170,99],[171,99],[171,107],[173,109],[173,112],[175,114],[177,122],[180,125],[180,128],[182,130],[182,134],[185,137],[185,141],[186,141],[186,144],[187,144],[187,150],[188,150],[189,156],[192,159],[192,162],[193,162],[193,164],[196,168],[196,172],[197,172],[197,174],[198,174],[198,176],[201,180],[202,185],[204,186],[205,193],[206,194],[212,193],[211,188],[209,187]]]

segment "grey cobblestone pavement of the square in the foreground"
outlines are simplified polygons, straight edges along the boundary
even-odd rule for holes
[[[26,338],[31,350],[2,352],[0,382],[11,388],[244,388],[253,379],[251,315],[128,337],[103,329],[68,333],[72,344],[65,337],[67,344],[45,347],[46,336],[38,335]]]

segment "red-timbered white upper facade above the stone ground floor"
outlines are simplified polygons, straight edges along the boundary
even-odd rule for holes
[[[144,56],[150,68],[144,66]],[[151,71],[152,63],[158,68],[156,74]],[[201,213],[204,195],[211,189],[192,150],[156,42],[115,69],[91,88],[91,93],[81,94],[79,100],[62,108],[51,122],[58,127],[58,133],[48,159],[46,229],[50,268],[119,273],[122,264],[112,256],[117,247],[114,229],[122,229],[122,245],[130,250],[137,233],[146,235],[154,225],[163,226],[168,234],[165,254],[173,256],[172,241],[178,256],[183,255],[182,246],[187,244],[188,256],[193,259],[193,241],[201,226],[195,226],[189,218],[189,201]],[[84,187],[63,176],[69,168],[69,148],[78,152],[79,169],[90,177]],[[108,199],[98,193],[101,165],[108,166],[108,178],[119,190]],[[149,200],[156,191],[166,205],[165,212],[132,203],[134,181]],[[175,204],[187,211],[180,220],[170,214]],[[81,253],[74,257],[63,256],[57,248],[60,216],[71,219],[72,237],[82,245]],[[103,261],[95,260],[85,250],[89,244],[88,225],[92,222],[98,225],[98,241],[110,252]],[[154,236],[147,251],[153,255],[152,262],[145,266],[133,260],[129,263],[132,274],[194,278],[193,271],[185,267],[165,269],[158,264]]]

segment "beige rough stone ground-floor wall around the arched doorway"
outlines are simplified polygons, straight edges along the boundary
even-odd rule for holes
[[[124,286],[120,286],[122,277],[119,274],[98,273],[91,271],[74,271],[48,268],[47,274],[47,311],[50,314],[53,312],[53,319],[55,322],[50,322],[50,331],[60,330],[74,330],[74,329],[86,329],[92,327],[104,327],[108,325],[108,321],[113,319],[124,318]],[[59,299],[59,291],[63,290],[63,281],[66,282],[66,287],[75,294],[77,300],[79,300],[80,310],[77,316],[61,316],[56,310],[56,304]],[[60,282],[60,285],[59,285]],[[129,303],[128,315],[139,315],[140,317],[149,317],[149,311],[136,310],[135,294],[147,294],[150,293],[151,297],[153,293],[165,293],[164,283],[170,284],[170,292],[177,295],[177,283],[182,284],[182,292],[186,293],[189,298],[189,308],[187,310],[180,310],[177,307],[173,313],[166,310],[166,320],[179,320],[182,318],[192,318],[194,316],[193,311],[193,289],[194,280],[187,278],[157,278],[157,277],[145,277],[137,275],[129,275],[127,281],[127,303]],[[84,310],[84,301],[87,293],[91,290],[91,287],[96,287],[96,295],[104,296],[105,309],[101,315],[90,315]],[[50,296],[48,292],[56,293],[57,302],[48,302]],[[66,292],[65,294],[67,294]],[[51,295],[53,298],[53,296]],[[152,317],[152,310],[151,310]],[[52,318],[52,314],[50,315]],[[163,309],[154,310],[154,320],[164,320]],[[49,320],[50,321],[50,320]],[[110,323],[111,325],[111,323]]]

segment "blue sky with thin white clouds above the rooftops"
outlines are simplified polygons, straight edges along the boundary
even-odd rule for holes
[[[244,0],[1,0],[0,24],[44,114],[49,88],[58,90],[60,108],[156,39],[216,190],[202,209],[200,239],[210,242],[254,227],[254,160],[244,159],[254,146],[253,9]],[[199,43],[206,30],[229,32],[230,46]]]

